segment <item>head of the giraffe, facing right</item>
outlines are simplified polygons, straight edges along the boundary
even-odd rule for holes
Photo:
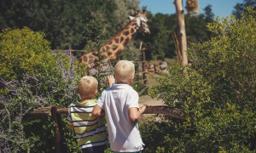
[[[136,20],[137,22],[137,29],[139,31],[142,31],[144,33],[150,34],[149,28],[148,28],[148,18],[146,16],[146,10],[143,9],[143,14],[141,14],[139,11],[137,12],[136,17],[129,16],[130,20]]]

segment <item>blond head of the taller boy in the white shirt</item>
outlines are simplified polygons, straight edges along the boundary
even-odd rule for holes
[[[134,64],[128,60],[120,60],[114,66],[114,77],[116,82],[127,83],[134,77],[135,68]]]

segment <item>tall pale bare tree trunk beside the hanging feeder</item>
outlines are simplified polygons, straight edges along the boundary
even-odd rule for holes
[[[183,9],[182,0],[174,0],[174,5],[176,7],[177,25],[178,25],[178,45],[182,54],[181,66],[188,65],[188,56],[185,51],[187,51],[187,37],[185,30],[185,14]]]

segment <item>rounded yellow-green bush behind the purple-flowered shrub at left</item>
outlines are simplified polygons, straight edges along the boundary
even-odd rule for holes
[[[20,79],[25,73],[36,75],[53,64],[44,33],[28,28],[0,33],[0,75],[5,80]],[[47,62],[45,62],[47,60]]]

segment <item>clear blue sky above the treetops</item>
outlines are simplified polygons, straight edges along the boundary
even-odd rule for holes
[[[174,0],[141,0],[139,4],[140,8],[143,6],[147,7],[147,10],[152,14],[175,14],[176,9],[173,4]],[[229,16],[232,14],[232,10],[236,6],[236,3],[243,3],[243,0],[198,0],[199,2],[199,13],[204,14],[204,8],[207,5],[212,5],[212,13],[220,18]],[[186,0],[183,0],[183,8],[186,6]],[[185,13],[187,11],[185,9]]]

